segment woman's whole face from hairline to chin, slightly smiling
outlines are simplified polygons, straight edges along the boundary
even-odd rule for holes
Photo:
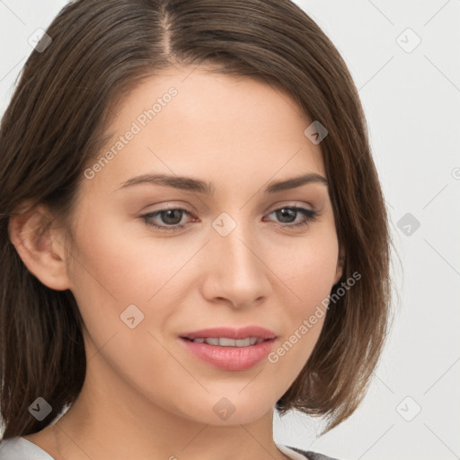
[[[318,305],[341,277],[327,184],[285,182],[326,177],[304,134],[313,120],[279,89],[202,67],[146,80],[114,115],[104,158],[85,171],[67,263],[85,385],[137,411],[257,420],[305,366]],[[183,338],[248,326],[274,338],[247,348]]]

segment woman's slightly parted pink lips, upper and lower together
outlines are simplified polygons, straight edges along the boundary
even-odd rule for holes
[[[234,340],[257,337],[264,339],[264,341],[249,347],[221,347],[188,340],[205,337],[226,337]],[[241,329],[223,327],[187,332],[181,334],[180,339],[186,349],[212,366],[226,370],[245,370],[267,357],[273,347],[276,335],[274,332],[258,326],[248,326]]]

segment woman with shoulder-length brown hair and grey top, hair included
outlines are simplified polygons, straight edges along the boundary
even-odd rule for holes
[[[0,133],[2,458],[329,458],[273,411],[356,410],[390,238],[358,92],[299,7],[72,2]]]

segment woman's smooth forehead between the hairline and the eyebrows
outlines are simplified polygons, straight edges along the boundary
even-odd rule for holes
[[[304,134],[311,120],[279,85],[170,67],[138,84],[113,115],[95,178],[112,189],[153,172],[208,181],[232,172],[234,186],[256,175],[265,181],[295,172],[325,176],[320,146]]]

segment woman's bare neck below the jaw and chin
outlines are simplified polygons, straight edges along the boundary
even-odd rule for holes
[[[247,423],[212,420],[220,424],[192,420],[180,407],[172,411],[152,403],[96,354],[75,403],[46,429],[48,440],[30,440],[56,460],[286,460],[273,440],[272,407]]]

